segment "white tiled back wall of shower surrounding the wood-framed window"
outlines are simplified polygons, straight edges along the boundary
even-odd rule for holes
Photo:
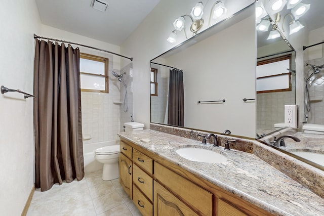
[[[109,93],[81,93],[83,143],[117,140],[117,133],[120,131],[120,106],[114,102],[120,101],[120,94],[117,79],[110,75],[111,71],[118,72],[112,68],[113,56],[84,48],[80,48],[80,52],[109,59]],[[89,136],[91,139],[88,139]]]

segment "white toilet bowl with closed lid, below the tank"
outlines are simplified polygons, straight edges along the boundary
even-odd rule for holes
[[[103,163],[102,180],[119,178],[119,152],[119,145],[105,146],[95,150],[96,160]]]

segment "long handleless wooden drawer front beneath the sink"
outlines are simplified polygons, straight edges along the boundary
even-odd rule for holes
[[[200,215],[212,215],[213,194],[154,162],[154,177]],[[199,197],[199,198],[198,198]]]

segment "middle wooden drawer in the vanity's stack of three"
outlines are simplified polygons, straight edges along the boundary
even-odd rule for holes
[[[153,179],[136,164],[133,165],[133,183],[153,201]]]

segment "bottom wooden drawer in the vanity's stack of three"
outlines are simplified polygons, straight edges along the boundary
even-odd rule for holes
[[[133,186],[133,202],[140,212],[146,215],[153,215],[153,205],[152,203],[138,190],[138,188]]]

